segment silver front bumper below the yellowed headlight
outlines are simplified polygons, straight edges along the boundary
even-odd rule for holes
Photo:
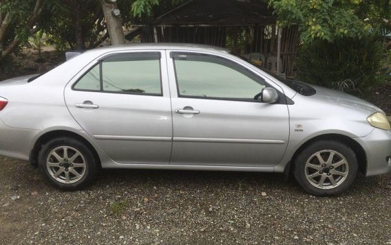
[[[375,128],[366,137],[355,138],[355,141],[366,151],[366,176],[391,172],[391,163],[387,161],[391,156],[391,131]]]

